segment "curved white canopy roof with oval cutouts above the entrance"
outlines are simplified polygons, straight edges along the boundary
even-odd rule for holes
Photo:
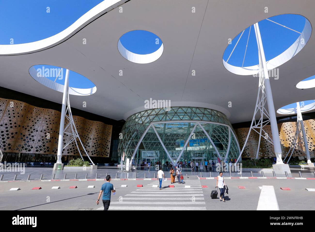
[[[117,7],[123,2],[101,3],[103,7],[95,10],[100,12],[96,16],[93,16],[94,8],[91,9],[88,16],[81,17],[89,18],[89,23],[80,18],[81,26],[76,21],[74,32],[69,30],[63,39],[60,36],[59,42],[55,39],[26,50],[1,45],[1,86],[61,103],[61,92],[41,85],[28,73],[31,66],[46,63],[68,68],[91,80],[97,91],[89,96],[71,96],[71,105],[101,116],[126,119],[128,113],[143,107],[144,101],[152,98],[170,100],[171,106],[188,102],[211,104],[213,109],[230,115],[231,123],[245,122],[253,115],[258,78],[226,70],[222,55],[228,38],[257,21],[286,13],[303,15],[315,25],[315,2],[301,4],[295,0],[268,1],[269,13],[264,12],[266,1],[249,4],[248,0],[237,3],[234,0],[209,3],[208,0],[193,3],[181,0],[179,4],[178,1],[130,0],[121,5],[123,13],[119,13],[118,8],[109,11],[111,7],[108,7],[108,13],[101,15],[107,12],[106,4]],[[192,7],[196,8],[196,13],[192,13]],[[117,41],[131,30],[151,31],[163,38],[162,56],[147,64],[133,63],[122,57]],[[82,43],[83,39],[86,44]],[[34,43],[40,44],[39,41]],[[4,46],[12,46],[13,50],[5,51]],[[36,52],[30,53],[31,50]],[[27,54],[16,55],[16,52]],[[271,78],[275,109],[297,102],[301,97],[314,99],[312,89],[295,87],[299,81],[314,75],[314,55],[315,39],[311,36],[295,57],[278,67],[279,79]],[[123,75],[119,75],[119,70]],[[87,102],[86,108],[82,107],[83,101]]]

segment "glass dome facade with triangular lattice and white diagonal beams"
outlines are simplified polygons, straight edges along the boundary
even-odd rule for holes
[[[118,155],[164,164],[238,158],[239,145],[231,123],[217,111],[201,107],[169,107],[129,116],[121,131]]]

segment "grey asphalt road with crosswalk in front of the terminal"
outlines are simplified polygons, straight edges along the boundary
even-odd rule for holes
[[[299,179],[227,179],[229,194],[226,202],[211,199],[216,180],[199,180],[192,176],[185,184],[170,181],[162,183],[162,190],[155,180],[111,181],[116,189],[112,194],[110,210],[256,210],[261,190],[259,186],[274,186],[280,210],[314,210],[315,180]],[[0,183],[0,210],[103,210],[96,199],[103,181],[54,181],[54,182],[7,182]],[[127,187],[121,185],[127,184]],[[136,187],[142,184],[143,187]],[[70,189],[76,185],[77,188]],[[94,185],[95,188],[88,188]],[[190,185],[190,188],[185,187]],[[60,189],[51,189],[60,186]],[[207,187],[202,187],[207,186]],[[239,189],[238,186],[245,186]],[[21,190],[9,191],[20,187]],[[42,187],[32,190],[33,187]],[[289,187],[290,191],[280,187]]]

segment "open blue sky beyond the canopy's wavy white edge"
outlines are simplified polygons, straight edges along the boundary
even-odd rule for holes
[[[103,0],[2,0],[0,44],[34,42],[53,36]],[[50,7],[50,13],[47,13]]]

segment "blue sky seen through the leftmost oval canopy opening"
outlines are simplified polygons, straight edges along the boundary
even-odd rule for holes
[[[45,68],[60,68],[60,67],[56,67],[56,66],[52,66],[52,65],[44,65],[44,64],[40,64],[40,65],[34,65],[33,66],[36,70],[39,68],[41,70],[43,70]],[[42,71],[40,71],[41,73],[43,73]],[[60,75],[62,73],[62,79],[59,80],[59,78],[57,78],[56,82],[59,84],[64,85],[65,84],[65,76],[66,76],[66,69],[64,68],[62,70],[62,72],[60,72]],[[49,80],[54,81],[56,79],[56,75],[55,76],[48,76],[47,77]],[[81,74],[78,74],[76,72],[73,72],[70,70],[69,73],[69,86],[70,87],[74,87],[74,88],[82,88],[82,89],[88,89],[88,88],[93,88],[95,85],[92,81],[90,81],[89,79],[87,79],[86,77],[84,77]]]

